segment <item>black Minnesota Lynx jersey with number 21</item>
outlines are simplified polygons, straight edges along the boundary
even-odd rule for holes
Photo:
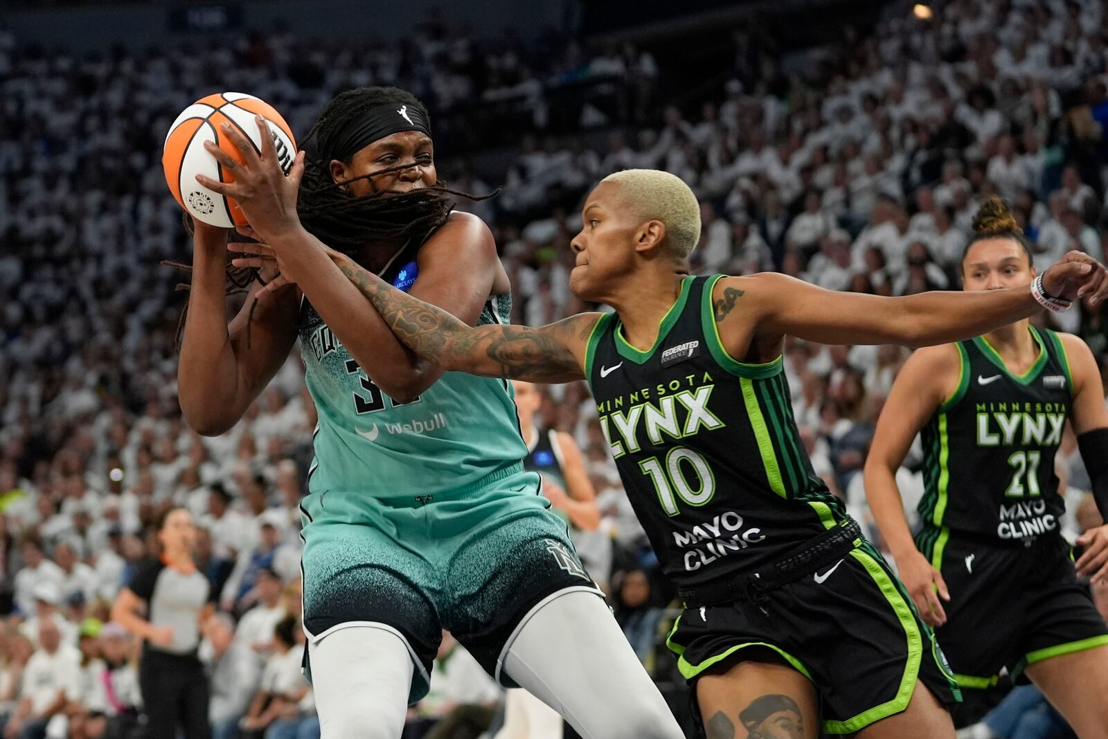
[[[922,431],[926,525],[932,556],[950,532],[1018,542],[1057,535],[1065,503],[1054,455],[1069,418],[1073,382],[1058,335],[1030,328],[1035,363],[1016,376],[984,337],[960,341],[954,394]]]

